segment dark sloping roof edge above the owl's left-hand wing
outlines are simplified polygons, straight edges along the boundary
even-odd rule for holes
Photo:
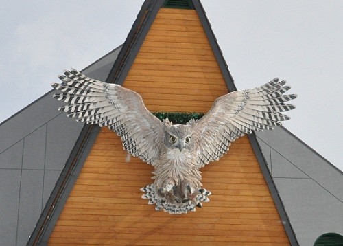
[[[150,30],[150,26],[152,25],[158,10],[163,5],[163,2],[163,0],[144,1],[141,11],[139,11],[137,19],[134,21],[128,37],[123,44],[123,48],[119,52],[118,58],[108,74],[106,82],[123,85],[128,71],[145,40],[145,36],[147,36],[147,32]]]

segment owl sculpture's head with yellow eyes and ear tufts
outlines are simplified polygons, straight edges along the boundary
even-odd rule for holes
[[[173,125],[168,118],[163,120],[165,135],[163,144],[171,150],[193,150],[195,146],[195,139],[193,139],[193,131],[196,128],[197,121],[190,120],[187,124]]]

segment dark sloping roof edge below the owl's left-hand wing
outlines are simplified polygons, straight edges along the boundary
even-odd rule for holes
[[[100,131],[99,126],[84,125],[27,245],[46,245],[64,208],[73,185]]]

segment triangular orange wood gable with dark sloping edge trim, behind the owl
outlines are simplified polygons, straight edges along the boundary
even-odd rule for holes
[[[195,10],[161,8],[163,3],[165,2],[145,1],[106,81],[116,82],[139,92],[152,111],[206,112],[215,98],[227,93],[228,89],[234,91],[235,85],[200,2],[192,1]],[[184,46],[180,48],[180,45]],[[187,70],[187,67],[191,70]],[[161,74],[159,71],[165,73]],[[161,96],[163,91],[169,92]],[[50,243],[57,244],[58,240],[66,240],[61,235],[67,235],[71,241],[73,236],[79,240],[82,237],[84,244],[86,241],[104,244],[114,243],[116,240],[131,244],[134,243],[134,238],[125,238],[125,235],[132,234],[136,235],[134,240],[143,241],[141,236],[145,235],[148,242],[158,243],[158,240],[165,240],[167,232],[178,234],[176,227],[184,232],[189,228],[193,231],[190,235],[180,234],[174,238],[179,242],[189,242],[191,236],[195,241],[217,243],[246,240],[272,243],[274,240],[274,243],[287,244],[289,239],[292,245],[297,244],[255,135],[237,140],[228,155],[223,157],[223,161],[203,169],[203,181],[207,179],[207,186],[211,186],[211,190],[218,190],[218,197],[206,204],[208,208],[181,216],[183,218],[155,212],[152,206],[140,199],[139,187],[151,183],[152,168],[139,164],[139,160],[135,158],[131,162],[136,164],[119,161],[125,157],[126,153],[115,133],[106,129],[100,131],[97,126],[85,126],[69,159],[69,165],[66,165],[68,171],[58,181],[59,188],[56,189],[60,192],[49,199],[52,201],[48,202],[50,208],[46,210],[49,211],[40,219],[42,223],[36,227],[29,244],[46,243],[51,232]],[[81,175],[77,180],[79,172]],[[136,174],[132,175],[132,172]],[[73,186],[73,183],[76,185]],[[107,187],[107,190],[99,190],[99,187],[95,187],[97,185],[104,185],[102,188]],[[84,190],[85,186],[87,190]],[[119,203],[113,203],[118,192],[115,187],[123,190],[117,197]],[[104,197],[98,197],[99,194],[104,194]],[[63,207],[69,209],[69,212],[63,213]],[[90,209],[97,210],[99,214],[89,214]],[[110,211],[110,214],[102,214],[102,209]],[[244,209],[248,213],[241,212]],[[115,211],[119,211],[119,214],[115,214]],[[57,221],[59,216],[60,220]],[[86,222],[80,219],[82,216]],[[147,219],[144,221],[145,225],[140,223],[144,218]],[[87,220],[90,227],[82,227],[87,224]],[[189,227],[187,220],[197,227]],[[119,221],[123,224],[119,225]],[[150,227],[147,226],[148,223]],[[95,227],[102,225],[107,229],[95,230]],[[141,234],[137,234],[139,225]],[[159,230],[161,234],[158,234],[156,225],[158,228],[164,225],[166,229]],[[168,227],[172,225],[176,227]],[[200,232],[194,232],[200,225]],[[70,231],[71,228],[76,228],[77,232]],[[91,235],[91,232],[98,236],[101,234],[100,238],[94,238],[95,235]],[[207,232],[206,236],[203,232]],[[285,232],[288,238],[285,237]],[[272,234],[274,236],[270,236]],[[111,238],[106,238],[108,236]],[[77,239],[74,242],[75,240]]]

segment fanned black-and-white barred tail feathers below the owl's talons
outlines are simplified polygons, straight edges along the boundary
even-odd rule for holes
[[[193,199],[184,203],[171,204],[168,201],[156,197],[156,189],[153,183],[141,188],[141,191],[145,192],[142,198],[148,199],[149,201],[147,203],[149,205],[156,204],[155,210],[163,210],[169,214],[187,214],[188,211],[195,212],[196,207],[202,208],[202,202],[210,201],[208,196],[211,194],[209,190],[200,188],[198,194]]]

